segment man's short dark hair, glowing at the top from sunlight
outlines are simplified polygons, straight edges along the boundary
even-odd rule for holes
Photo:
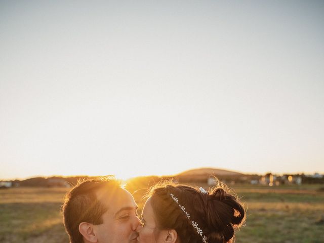
[[[65,230],[71,243],[84,242],[83,236],[78,230],[80,223],[87,222],[94,225],[103,223],[102,215],[108,208],[96,195],[96,192],[102,188],[107,188],[113,193],[121,186],[120,182],[113,177],[83,180],[66,193],[62,211]]]

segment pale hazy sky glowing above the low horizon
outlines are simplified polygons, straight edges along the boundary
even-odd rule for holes
[[[324,173],[323,1],[0,1],[0,178]]]

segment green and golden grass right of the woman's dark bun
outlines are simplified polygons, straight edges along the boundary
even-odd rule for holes
[[[235,188],[247,206],[237,242],[324,242],[320,187]]]

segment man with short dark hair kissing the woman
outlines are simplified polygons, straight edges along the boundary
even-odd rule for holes
[[[136,242],[137,205],[115,179],[78,183],[66,194],[62,209],[71,243]]]

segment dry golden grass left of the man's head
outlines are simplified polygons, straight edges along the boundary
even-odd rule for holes
[[[66,188],[0,191],[0,242],[68,242],[60,207]]]

